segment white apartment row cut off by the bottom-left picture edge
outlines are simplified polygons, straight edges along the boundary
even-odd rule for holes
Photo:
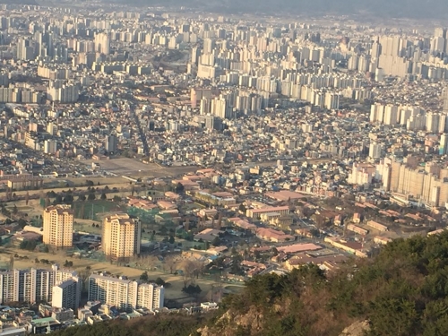
[[[71,287],[71,289],[67,289]],[[61,288],[65,290],[59,290]],[[54,297],[56,295],[56,297]],[[81,280],[76,272],[59,269],[30,269],[0,272],[0,302],[52,302],[56,306],[77,309],[81,297]],[[65,305],[65,306],[63,306]]]

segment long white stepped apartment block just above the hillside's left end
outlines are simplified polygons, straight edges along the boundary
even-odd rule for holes
[[[115,278],[104,273],[89,278],[89,301],[100,301],[122,309],[163,307],[164,288],[152,283]]]

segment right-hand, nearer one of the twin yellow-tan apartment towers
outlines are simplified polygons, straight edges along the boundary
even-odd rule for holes
[[[140,254],[142,223],[127,213],[108,216],[103,221],[101,246],[112,260],[127,261]]]

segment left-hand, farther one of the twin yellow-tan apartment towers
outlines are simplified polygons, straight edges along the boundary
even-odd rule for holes
[[[73,210],[57,204],[44,210],[44,243],[56,247],[73,245]]]

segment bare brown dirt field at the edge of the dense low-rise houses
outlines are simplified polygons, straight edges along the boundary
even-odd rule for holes
[[[196,171],[197,167],[162,167],[155,163],[142,163],[136,159],[105,159],[102,161],[87,160],[99,163],[102,170],[116,174],[118,177],[176,177],[177,175]]]

